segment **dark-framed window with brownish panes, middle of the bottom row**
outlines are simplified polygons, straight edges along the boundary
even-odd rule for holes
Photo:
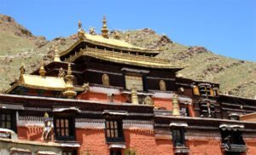
[[[123,142],[123,123],[120,119],[106,120],[106,136],[107,142]]]

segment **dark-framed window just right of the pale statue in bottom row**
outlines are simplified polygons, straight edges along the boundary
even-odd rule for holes
[[[74,140],[73,117],[55,117],[55,138],[60,141]]]

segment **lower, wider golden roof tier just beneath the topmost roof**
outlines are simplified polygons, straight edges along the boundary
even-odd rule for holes
[[[67,61],[73,62],[80,56],[90,56],[99,60],[108,60],[120,64],[132,66],[145,66],[151,68],[182,68],[178,65],[172,65],[170,60],[148,57],[143,55],[131,55],[127,53],[111,52],[101,49],[82,49],[76,55],[71,56]]]

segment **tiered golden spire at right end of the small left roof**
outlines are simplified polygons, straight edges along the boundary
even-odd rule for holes
[[[67,75],[65,76],[67,83],[65,91],[63,92],[63,95],[66,96],[68,99],[72,99],[74,96],[77,95],[77,92],[74,91],[73,87],[73,75],[71,70],[71,65],[68,64],[67,66]]]

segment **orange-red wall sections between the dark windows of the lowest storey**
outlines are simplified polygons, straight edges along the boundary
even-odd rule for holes
[[[41,141],[43,128],[18,127],[19,138],[21,140]],[[124,129],[125,146],[135,150],[138,155],[172,155],[172,140],[155,139],[154,131],[151,129]],[[76,129],[77,141],[81,147],[79,154],[90,152],[91,154],[108,155],[109,148],[105,139],[104,129]],[[256,140],[246,139],[247,155],[256,154]],[[187,140],[186,146],[189,146],[189,155],[222,155],[220,141],[213,138]],[[124,152],[124,151],[123,151]]]

